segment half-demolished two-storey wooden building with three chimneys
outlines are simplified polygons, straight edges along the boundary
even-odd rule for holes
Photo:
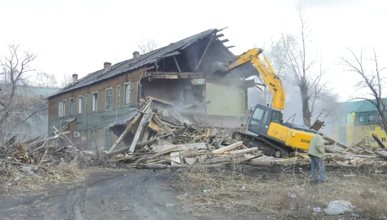
[[[215,61],[235,57],[223,44],[228,39],[219,39],[220,31],[206,30],[147,54],[134,52],[132,59],[115,65],[105,62],[103,69],[79,80],[74,72],[74,82],[48,98],[48,132],[69,130],[76,140],[92,136],[94,143],[108,148],[116,140],[109,124],[144,97],[175,107],[209,102],[195,116],[214,126],[245,123],[247,88],[254,82],[244,79],[257,74],[255,67],[235,69],[221,81],[206,78]]]

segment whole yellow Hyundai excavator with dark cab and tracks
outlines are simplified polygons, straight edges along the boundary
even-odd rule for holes
[[[244,142],[248,147],[258,147],[265,154],[276,158],[287,158],[289,152],[295,149],[308,150],[309,143],[316,131],[283,121],[285,105],[285,89],[279,77],[276,76],[269,59],[264,57],[267,66],[259,59],[263,50],[250,49],[235,60],[215,63],[209,77],[222,78],[231,70],[245,64],[253,63],[259,75],[269,87],[272,95],[270,104],[257,104],[253,107],[248,120],[246,131],[236,131],[233,137]]]

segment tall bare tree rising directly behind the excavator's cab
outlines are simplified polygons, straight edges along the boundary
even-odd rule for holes
[[[298,34],[281,33],[281,43],[286,53],[284,65],[286,81],[298,86],[301,94],[303,124],[311,126],[312,118],[326,118],[332,109],[333,103],[328,106],[322,104],[322,96],[328,96],[332,75],[327,77],[329,69],[322,66],[321,55],[317,49],[310,47],[312,28],[308,26],[308,17],[303,5],[297,5]],[[319,59],[320,58],[320,59]],[[319,64],[316,67],[316,64]],[[322,109],[318,107],[323,107]]]

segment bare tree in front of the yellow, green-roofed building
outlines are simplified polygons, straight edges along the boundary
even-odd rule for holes
[[[344,65],[347,69],[345,71],[355,72],[360,76],[360,80],[357,82],[356,89],[366,90],[365,96],[357,96],[354,99],[362,99],[369,101],[373,106],[375,106],[376,110],[380,115],[379,122],[381,126],[387,128],[387,120],[386,120],[386,102],[382,98],[385,95],[384,89],[386,86],[385,75],[382,74],[387,67],[380,67],[378,64],[378,56],[379,52],[375,50],[372,46],[372,58],[365,58],[366,48],[361,46],[360,55],[356,55],[353,50],[346,48],[350,54],[352,59],[340,57],[341,65]],[[371,71],[366,71],[367,65],[366,61],[372,62],[374,67]],[[369,98],[372,97],[372,98]],[[386,131],[387,134],[387,131]]]

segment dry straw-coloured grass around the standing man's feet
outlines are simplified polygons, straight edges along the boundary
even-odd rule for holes
[[[228,210],[265,212],[288,219],[323,218],[324,213],[313,213],[313,207],[324,209],[330,201],[346,200],[355,205],[354,212],[361,217],[387,219],[386,176],[372,173],[363,170],[356,176],[344,177],[348,174],[345,171],[330,171],[330,183],[316,184],[310,183],[305,171],[293,169],[275,172],[244,167],[212,171],[194,168],[180,175],[180,187],[185,193],[179,198],[191,206],[194,214]]]

